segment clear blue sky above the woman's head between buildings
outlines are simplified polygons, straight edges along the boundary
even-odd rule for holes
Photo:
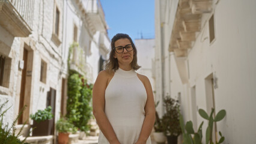
[[[154,38],[154,0],[100,0],[109,26],[109,39],[117,33]]]

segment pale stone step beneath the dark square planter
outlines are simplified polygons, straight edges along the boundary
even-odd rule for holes
[[[25,137],[19,137],[20,140],[25,139]],[[27,137],[26,141],[30,144],[52,144],[53,136],[33,136],[33,137]]]

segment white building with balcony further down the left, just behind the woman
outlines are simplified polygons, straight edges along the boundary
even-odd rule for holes
[[[67,61],[70,44],[77,42],[80,48],[75,47],[70,67],[94,83],[110,46],[102,5],[99,0],[66,1],[64,11],[64,59]]]

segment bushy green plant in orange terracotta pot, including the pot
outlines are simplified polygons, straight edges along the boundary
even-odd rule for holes
[[[58,143],[66,144],[69,142],[69,134],[73,132],[75,126],[71,124],[67,119],[60,118],[56,122],[56,130],[58,131]]]

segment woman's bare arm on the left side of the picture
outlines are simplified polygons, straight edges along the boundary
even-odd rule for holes
[[[96,118],[100,130],[108,139],[109,143],[118,142],[114,129],[112,128],[108,118],[105,115],[105,90],[108,85],[109,74],[106,71],[101,71],[93,86],[93,115]]]

